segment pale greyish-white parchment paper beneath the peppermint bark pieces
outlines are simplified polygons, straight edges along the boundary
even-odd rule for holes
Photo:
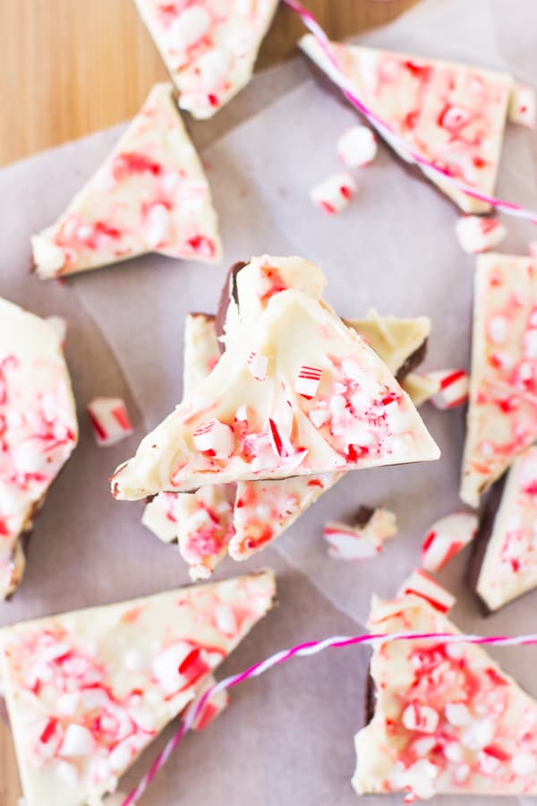
[[[528,0],[428,0],[360,41],[497,67],[535,83],[536,23]],[[220,267],[149,256],[62,284],[30,277],[30,233],[55,219],[121,127],[0,172],[0,294],[36,313],[67,319],[66,353],[81,417],[80,446],[36,522],[26,577],[13,601],[0,604],[0,624],[188,581],[179,555],[141,527],[141,504],[111,498],[107,476],[181,399],[184,315],[215,310],[231,262],[263,252],[303,254],[328,274],[328,300],[339,313],[359,316],[375,305],[381,313],[429,314],[427,365],[467,366],[473,259],[456,244],[456,210],[431,185],[408,176],[383,146],[379,159],[360,174],[358,197],[343,214],[328,219],[313,208],[308,191],[337,169],[337,136],[356,115],[309,75],[301,61],[260,74],[214,122],[191,126],[220,217],[226,247]],[[536,167],[535,134],[509,126],[500,196],[535,206]],[[525,253],[535,238],[532,225],[507,223],[505,251]],[[130,441],[107,450],[94,444],[83,409],[97,394],[124,397],[135,426]],[[347,476],[274,547],[250,562],[220,567],[217,578],[273,566],[280,603],[222,673],[300,640],[362,631],[371,593],[395,593],[418,562],[426,528],[460,507],[464,413],[426,407],[423,414],[443,451],[439,463]],[[352,516],[362,503],[395,510],[399,535],[372,562],[328,559],[324,523]],[[458,596],[457,624],[489,634],[534,631],[535,592],[481,618],[463,582],[467,559],[463,553],[441,576]],[[495,654],[537,696],[537,651]],[[350,806],[353,734],[363,723],[367,657],[365,649],[334,650],[243,684],[215,725],[187,737],[142,803]],[[169,735],[144,755],[122,789],[137,782]],[[365,802],[391,806],[402,797]],[[476,806],[485,802],[472,798]]]

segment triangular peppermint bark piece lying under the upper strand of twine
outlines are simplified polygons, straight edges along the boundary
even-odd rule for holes
[[[379,134],[402,159],[412,161],[404,141],[454,179],[485,195],[493,193],[514,86],[511,76],[332,42],[328,47],[337,69],[311,34],[301,39],[300,47],[332,81],[388,124],[393,134],[378,126]],[[430,168],[422,170],[465,212],[490,210]]]

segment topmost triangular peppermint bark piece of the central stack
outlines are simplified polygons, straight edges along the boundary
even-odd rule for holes
[[[115,497],[438,458],[386,365],[327,305],[281,291],[241,332],[192,397],[116,470]],[[252,351],[270,356],[264,382],[251,374]],[[294,390],[304,366],[321,371],[311,399]]]

